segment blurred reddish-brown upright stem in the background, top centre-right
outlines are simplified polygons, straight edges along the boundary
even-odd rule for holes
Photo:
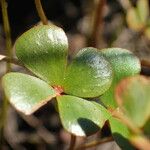
[[[103,10],[105,6],[106,0],[99,0],[95,6],[94,12],[94,20],[93,20],[93,27],[91,37],[89,39],[89,46],[97,47],[98,43],[101,40],[101,31],[103,26]]]

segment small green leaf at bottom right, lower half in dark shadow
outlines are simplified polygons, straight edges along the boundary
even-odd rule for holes
[[[129,129],[117,118],[111,117],[109,124],[112,132],[112,136],[122,150],[134,150],[130,144],[129,139],[131,133]]]

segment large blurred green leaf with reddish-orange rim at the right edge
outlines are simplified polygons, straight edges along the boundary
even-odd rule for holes
[[[117,86],[116,100],[134,125],[142,128],[150,118],[150,80],[143,76],[124,79]]]

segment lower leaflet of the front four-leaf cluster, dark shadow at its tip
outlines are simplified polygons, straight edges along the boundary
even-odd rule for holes
[[[75,96],[58,96],[57,102],[63,127],[76,136],[97,132],[110,117],[103,106]]]

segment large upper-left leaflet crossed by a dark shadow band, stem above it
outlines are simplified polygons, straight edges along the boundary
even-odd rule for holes
[[[67,63],[68,41],[54,25],[39,25],[23,33],[15,43],[18,59],[51,85],[61,85]]]

